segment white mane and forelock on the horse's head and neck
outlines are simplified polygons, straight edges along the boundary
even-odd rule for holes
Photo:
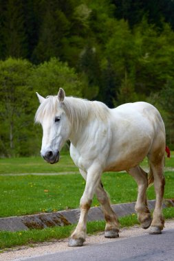
[[[109,114],[109,108],[102,102],[91,102],[74,97],[65,97],[62,103],[62,109],[76,129],[85,125],[89,119],[94,120],[97,118],[102,122],[106,122]],[[57,96],[47,96],[36,111],[35,122],[41,122],[45,116],[51,118],[56,115],[57,111]]]

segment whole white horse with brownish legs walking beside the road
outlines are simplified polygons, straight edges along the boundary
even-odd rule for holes
[[[162,199],[164,196],[165,127],[157,109],[146,102],[122,104],[109,109],[102,102],[58,95],[43,98],[36,93],[40,106],[35,122],[43,127],[41,157],[54,164],[65,141],[69,139],[70,155],[85,179],[80,198],[80,218],[69,237],[68,245],[82,246],[86,237],[87,212],[96,194],[106,220],[105,237],[118,238],[119,222],[101,182],[102,172],[129,173],[138,184],[135,211],[143,229],[161,234],[164,227]],[[149,174],[140,167],[148,157]],[[146,189],[154,183],[153,217],[147,205]]]

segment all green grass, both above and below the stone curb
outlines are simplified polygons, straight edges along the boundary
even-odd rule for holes
[[[173,154],[172,154],[173,155]],[[147,166],[146,159],[142,166]],[[166,159],[166,167],[174,168],[174,158]],[[167,169],[166,169],[167,170]],[[61,209],[72,209],[79,205],[80,196],[85,188],[85,181],[80,174],[68,174],[58,176],[33,176],[30,173],[50,172],[76,172],[77,168],[69,155],[63,153],[60,163],[50,165],[43,159],[17,158],[0,159],[0,216],[20,216],[39,212],[54,212]],[[27,175],[11,175],[29,173]],[[172,171],[165,172],[166,189],[164,198],[173,198],[174,174]],[[137,185],[126,173],[105,173],[102,175],[102,183],[109,192],[111,203],[125,203],[135,201],[137,198]],[[148,198],[155,198],[154,188],[149,188]],[[99,205],[94,198],[93,206]],[[8,207],[7,207],[8,206]],[[164,209],[166,218],[174,217],[174,208]],[[122,227],[138,223],[137,216],[131,215],[120,218]],[[29,231],[8,232],[0,231],[0,249],[14,247],[16,245],[32,245],[34,242],[58,240],[67,238],[75,225],[67,227],[52,227],[43,230],[32,229]],[[91,222],[87,225],[87,233],[105,229],[104,221]]]

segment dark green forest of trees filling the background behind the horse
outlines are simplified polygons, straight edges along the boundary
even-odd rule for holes
[[[0,157],[39,155],[35,92],[59,87],[150,102],[174,148],[173,0],[0,0],[0,14]]]

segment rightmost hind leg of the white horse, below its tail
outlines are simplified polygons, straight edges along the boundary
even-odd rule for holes
[[[150,234],[161,234],[164,227],[164,216],[162,214],[162,199],[164,196],[165,179],[164,171],[164,153],[155,152],[149,155],[151,170],[154,177],[154,188],[156,194],[155,209],[151,223]]]

